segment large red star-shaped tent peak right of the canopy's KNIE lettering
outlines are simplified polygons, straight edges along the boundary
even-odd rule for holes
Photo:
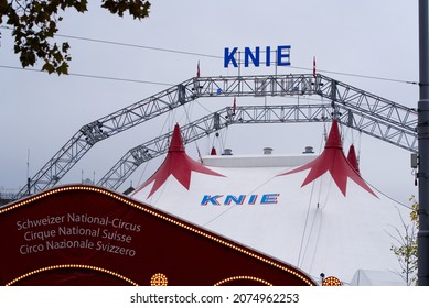
[[[361,175],[354,169],[354,167],[348,163],[343,153],[343,146],[341,145],[341,134],[339,130],[339,123],[336,120],[332,121],[332,127],[330,134],[328,136],[324,151],[318,158],[314,161],[298,167],[293,170],[280,174],[289,175],[298,172],[310,169],[307,175],[302,186],[315,180],[324,173],[330,172],[332,178],[334,179],[336,186],[340,188],[341,193],[345,196],[347,188],[347,178],[353,179],[357,185],[367,190],[369,194],[377,197]]]

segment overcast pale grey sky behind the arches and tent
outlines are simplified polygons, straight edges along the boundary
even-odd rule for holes
[[[202,76],[237,75],[223,67],[224,47],[291,45],[291,67],[279,74],[317,69],[332,78],[374,92],[398,103],[416,107],[418,86],[344,74],[418,80],[418,8],[409,0],[300,0],[300,1],[152,1],[149,19],[110,15],[90,1],[85,14],[66,13],[60,33],[79,37],[153,46],[221,58],[167,53],[129,46],[68,40],[73,61],[69,72],[115,78],[179,84],[195,76],[200,61]],[[19,67],[11,33],[1,30],[0,94],[1,151],[0,187],[25,184],[28,152],[30,176],[34,175],[78,129],[169,86],[118,81],[11,69]],[[58,37],[58,40],[64,40]],[[307,68],[302,69],[302,68]],[[330,72],[330,73],[328,73]],[[243,68],[242,75],[274,74],[272,68]],[[305,102],[308,98],[299,98]],[[319,98],[310,98],[319,99]],[[267,98],[270,103],[272,98]],[[298,101],[291,98],[288,102]],[[313,101],[311,101],[313,102]],[[264,98],[237,105],[265,103]],[[190,114],[230,106],[229,99],[199,100],[187,107]],[[98,180],[130,147],[185,123],[183,110],[163,121],[150,121],[97,143],[61,180]],[[276,154],[300,153],[305,145],[320,148],[322,124],[243,125],[223,132],[222,139],[235,154],[261,153],[271,146]],[[364,178],[384,193],[406,201],[416,194],[409,153],[367,135],[346,130],[346,141],[356,141]],[[199,141],[206,153],[213,142]],[[159,161],[140,168],[124,185],[133,186],[158,167]]]

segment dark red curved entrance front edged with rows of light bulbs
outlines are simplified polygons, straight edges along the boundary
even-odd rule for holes
[[[0,208],[0,285],[314,285],[288,264],[87,185]]]

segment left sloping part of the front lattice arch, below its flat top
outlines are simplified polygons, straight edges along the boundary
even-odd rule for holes
[[[95,143],[195,99],[192,81],[193,78],[82,127],[22,187],[15,199],[54,187]]]

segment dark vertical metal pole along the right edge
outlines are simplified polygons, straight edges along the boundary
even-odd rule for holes
[[[419,223],[418,279],[420,286],[429,285],[429,6],[419,0],[419,62],[420,97],[418,102],[417,138],[419,148]]]

